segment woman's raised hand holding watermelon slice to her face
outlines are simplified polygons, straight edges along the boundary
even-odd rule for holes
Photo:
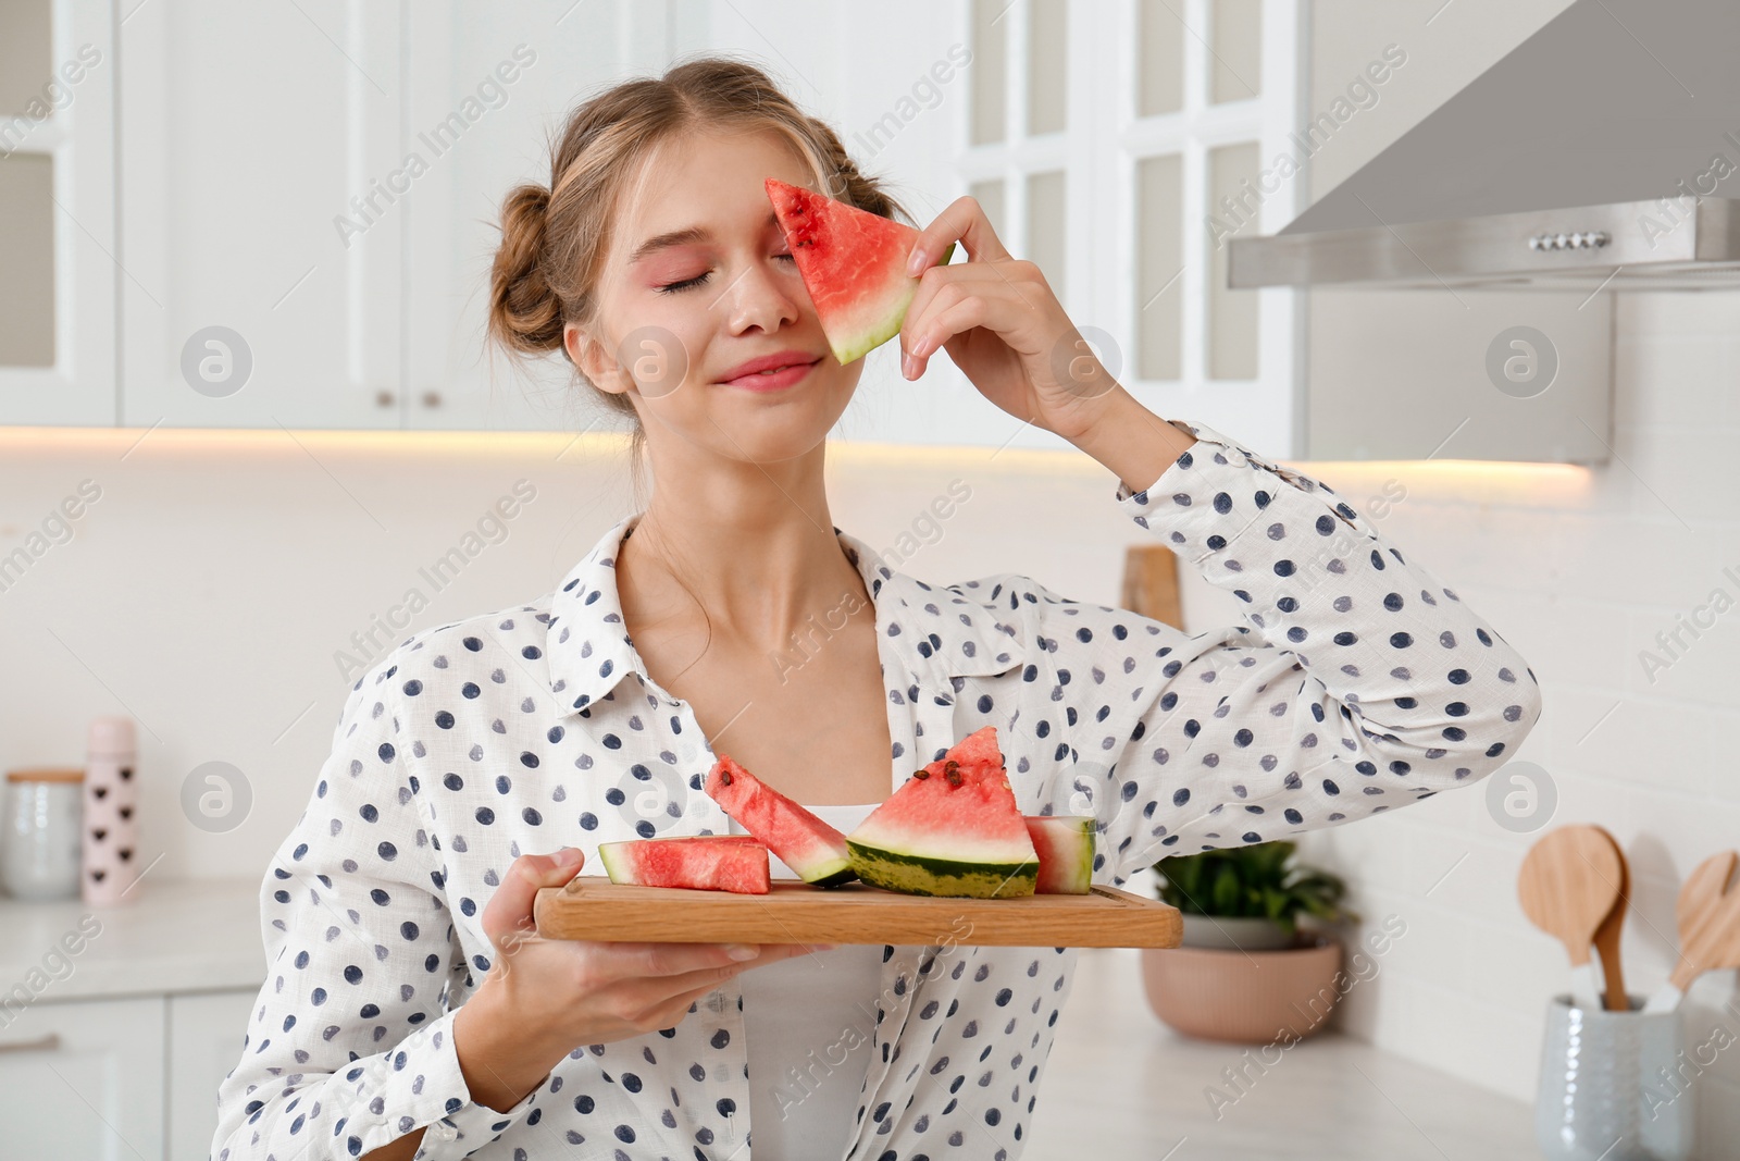
[[[967,261],[931,266],[950,242],[966,245]],[[908,379],[924,374],[941,346],[985,399],[1068,440],[1084,435],[1122,390],[1039,266],[1009,258],[976,198],[957,198],[938,214],[919,233],[914,256],[924,273],[900,329]]]

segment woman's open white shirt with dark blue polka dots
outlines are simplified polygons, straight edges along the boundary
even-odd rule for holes
[[[1333,489],[1206,426],[1115,501],[1244,609],[1202,634],[1027,576],[934,587],[839,534],[875,604],[889,787],[997,726],[1023,813],[1096,818],[1094,881],[1463,787],[1540,714],[1522,658]],[[625,634],[616,524],[534,604],[414,634],[350,691],[261,886],[268,978],[219,1088],[218,1161],[748,1158],[757,1077],[733,980],[675,1025],[576,1044],[515,1107],[475,1104],[454,1011],[522,853],[726,834],[713,754]],[[839,529],[835,529],[839,533]],[[880,949],[849,1159],[1020,1156],[1074,949]],[[818,1027],[818,1051],[837,1029]]]

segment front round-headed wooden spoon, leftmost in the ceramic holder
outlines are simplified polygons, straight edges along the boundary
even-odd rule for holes
[[[1597,827],[1559,827],[1522,858],[1517,898],[1536,928],[1564,943],[1571,959],[1571,997],[1599,1008],[1589,947],[1620,895],[1620,855]]]

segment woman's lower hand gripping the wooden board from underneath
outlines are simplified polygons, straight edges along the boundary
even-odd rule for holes
[[[539,888],[564,886],[585,853],[520,855],[484,907],[484,931],[496,954],[465,1008],[485,999],[501,1034],[539,1057],[560,1060],[579,1044],[644,1036],[673,1027],[701,999],[748,968],[826,945],[811,943],[625,943],[546,940],[532,923]],[[733,954],[736,952],[736,954]],[[743,956],[741,959],[738,956]],[[463,1008],[461,1008],[463,1011]],[[458,1034],[456,1034],[458,1039]]]

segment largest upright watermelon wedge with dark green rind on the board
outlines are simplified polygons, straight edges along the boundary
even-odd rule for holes
[[[995,726],[914,773],[846,846],[860,879],[907,895],[1016,898],[1039,876]]]

